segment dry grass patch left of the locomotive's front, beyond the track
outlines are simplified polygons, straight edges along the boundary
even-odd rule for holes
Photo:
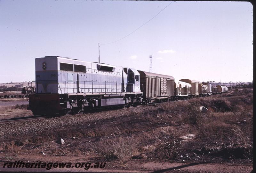
[[[27,110],[28,105],[15,105],[0,107],[0,119],[32,116],[33,113]]]

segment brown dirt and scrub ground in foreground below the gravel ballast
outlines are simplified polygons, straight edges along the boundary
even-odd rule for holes
[[[77,122],[78,116],[68,117],[76,123],[0,138],[0,171],[251,172],[252,95],[252,89],[247,89],[169,105],[80,115],[108,115],[86,123]],[[200,106],[211,112],[201,112]],[[65,144],[59,143],[60,138]],[[3,168],[4,162],[16,160],[106,162],[106,166],[88,170]]]

